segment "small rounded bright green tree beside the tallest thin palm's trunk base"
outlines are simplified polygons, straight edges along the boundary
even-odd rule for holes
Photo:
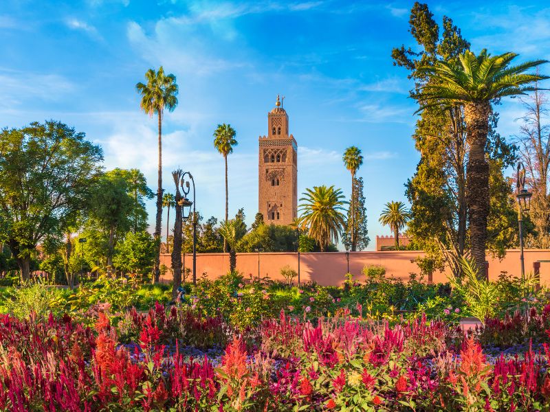
[[[155,239],[147,231],[130,231],[117,247],[113,264],[126,273],[151,270],[155,261]]]

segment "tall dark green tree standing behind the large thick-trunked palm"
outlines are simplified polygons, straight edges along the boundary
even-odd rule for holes
[[[394,65],[409,70],[408,77],[415,82],[410,95],[421,101],[421,88],[434,80],[419,69],[435,65],[439,60],[458,62],[458,56],[469,49],[470,43],[447,16],[443,16],[440,32],[428,5],[423,3],[412,6],[409,23],[418,47],[415,51],[404,46],[395,48],[392,57]],[[498,113],[494,111],[489,117],[486,152],[487,161],[492,164],[490,179],[503,187],[507,184],[503,172],[514,163],[515,155],[514,147],[496,133],[497,123]],[[408,234],[413,247],[426,251],[426,258],[422,259],[426,262],[419,264],[439,270],[449,265],[458,276],[461,271],[458,258],[465,254],[470,238],[466,202],[469,146],[463,107],[444,101],[441,105],[426,107],[417,121],[413,138],[421,159],[417,172],[406,184],[412,205]],[[514,242],[514,236],[507,236],[509,231],[499,230],[508,221],[509,209],[498,192],[491,191],[490,196],[489,221],[499,223],[489,225],[487,247],[492,253],[502,255],[503,247]],[[508,223],[510,227],[515,226],[514,220]]]

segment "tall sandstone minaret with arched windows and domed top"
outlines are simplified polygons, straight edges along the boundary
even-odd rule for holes
[[[298,146],[277,95],[267,114],[267,136],[259,138],[258,211],[265,223],[290,225],[298,216]]]

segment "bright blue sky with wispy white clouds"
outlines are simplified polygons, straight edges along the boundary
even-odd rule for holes
[[[218,123],[237,130],[229,159],[230,214],[257,211],[257,139],[285,95],[298,141],[298,194],[336,185],[349,193],[347,146],[362,149],[369,234],[384,203],[406,201],[419,155],[410,135],[415,104],[391,49],[411,45],[412,1],[0,0],[0,126],[60,119],[104,148],[106,168],[140,168],[155,190],[156,120],[139,108],[135,83],[163,65],[179,84],[164,119],[164,187],[190,170],[201,214],[223,216]],[[550,59],[545,1],[430,1],[478,51]],[[550,68],[547,68],[550,71]],[[517,133],[521,108],[505,102],[499,131]],[[148,203],[153,221],[154,204]],[[166,220],[166,214],[164,214]],[[166,222],[163,222],[163,225]],[[163,231],[164,233],[164,231]],[[374,242],[371,243],[373,247]]]

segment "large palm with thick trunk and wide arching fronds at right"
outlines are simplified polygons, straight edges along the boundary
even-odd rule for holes
[[[483,273],[487,216],[489,215],[489,165],[485,160],[485,143],[489,130],[491,103],[506,96],[533,91],[538,80],[547,79],[538,73],[525,73],[547,60],[533,60],[512,66],[518,55],[505,53],[491,56],[483,49],[476,56],[469,50],[456,64],[439,61],[433,67],[422,67],[428,82],[420,93],[422,111],[430,106],[464,107],[467,144],[470,146],[466,170],[466,202],[470,220],[470,244],[476,267]]]

